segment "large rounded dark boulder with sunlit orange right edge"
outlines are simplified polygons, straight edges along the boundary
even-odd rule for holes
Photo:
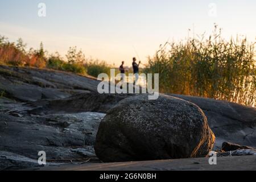
[[[103,162],[206,156],[215,137],[203,111],[191,102],[160,94],[126,98],[101,121],[94,146]]]

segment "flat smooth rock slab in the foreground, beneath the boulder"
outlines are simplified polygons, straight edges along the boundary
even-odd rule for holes
[[[208,158],[155,160],[125,163],[86,163],[73,166],[31,168],[41,171],[255,171],[256,156],[217,158],[217,165],[210,165]]]

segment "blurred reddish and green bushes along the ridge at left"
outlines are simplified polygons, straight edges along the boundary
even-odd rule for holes
[[[26,46],[22,39],[14,43],[9,42],[5,36],[0,36],[0,64],[56,69],[93,77],[100,73],[110,75],[112,65],[106,64],[105,61],[86,59],[81,50],[77,51],[77,47],[70,47],[64,59],[58,52],[48,55],[43,43],[40,43],[38,50],[31,48],[26,51]]]

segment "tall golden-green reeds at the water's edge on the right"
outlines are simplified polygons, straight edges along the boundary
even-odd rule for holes
[[[160,92],[256,104],[254,44],[246,38],[229,42],[216,29],[187,42],[166,43],[149,58],[146,73],[159,73]]]

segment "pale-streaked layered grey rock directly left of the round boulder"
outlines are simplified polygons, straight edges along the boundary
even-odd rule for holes
[[[48,162],[96,158],[93,145],[98,125],[104,116],[101,113],[33,117],[0,114],[0,169],[38,166],[34,161],[39,158],[39,151],[46,152]],[[6,152],[19,157],[10,158]]]

